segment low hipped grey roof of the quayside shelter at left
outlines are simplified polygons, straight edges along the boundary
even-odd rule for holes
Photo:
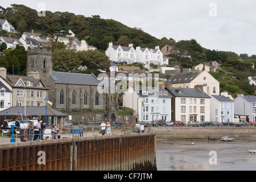
[[[26,106],[26,114],[24,106],[15,106],[8,109],[0,111],[0,115],[45,115],[45,106]],[[66,114],[55,110],[53,108],[47,107],[47,116],[62,116],[66,117]]]

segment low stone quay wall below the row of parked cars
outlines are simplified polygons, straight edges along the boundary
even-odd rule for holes
[[[256,136],[256,127],[149,127],[147,132],[152,132],[156,135],[156,138],[207,138],[210,135],[211,138],[221,138],[225,135],[230,137],[248,137]]]

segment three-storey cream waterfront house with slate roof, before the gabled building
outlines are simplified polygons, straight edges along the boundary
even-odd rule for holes
[[[169,90],[169,89],[167,89]],[[199,89],[172,88],[172,118],[174,121],[210,121],[211,97]]]

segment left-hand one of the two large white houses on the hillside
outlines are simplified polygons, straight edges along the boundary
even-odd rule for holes
[[[113,43],[109,43],[109,47],[105,51],[110,61],[114,63],[126,63],[132,64],[136,61],[136,51],[133,48],[133,44],[129,44],[129,47],[125,46],[113,46]]]

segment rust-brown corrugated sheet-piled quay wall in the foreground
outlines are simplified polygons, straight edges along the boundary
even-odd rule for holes
[[[119,134],[0,144],[0,171],[157,170],[155,135]]]

